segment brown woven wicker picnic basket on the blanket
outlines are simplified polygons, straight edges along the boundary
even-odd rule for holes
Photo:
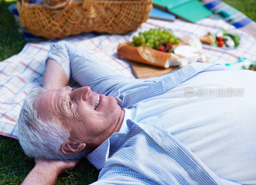
[[[149,17],[152,0],[18,0],[20,22],[29,32],[47,39],[81,32],[125,34]]]

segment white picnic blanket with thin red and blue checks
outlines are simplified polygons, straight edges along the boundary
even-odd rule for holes
[[[234,63],[240,58],[256,60],[256,39],[246,32],[236,29],[223,20],[202,19],[196,24],[181,20],[167,22],[148,19],[141,27],[126,35],[107,35],[83,33],[68,37],[66,40],[92,54],[102,63],[127,77],[134,78],[127,60],[116,54],[119,43],[131,41],[134,34],[150,28],[171,29],[175,35],[199,37],[207,32],[217,32],[220,28],[241,36],[241,44],[236,49],[219,48],[203,45],[203,53],[211,63]],[[45,58],[52,42],[28,43],[22,51],[0,62],[0,134],[17,137],[17,120],[20,108],[30,89],[42,85],[45,69]]]

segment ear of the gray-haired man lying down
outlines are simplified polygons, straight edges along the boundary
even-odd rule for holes
[[[86,144],[77,141],[66,140],[61,146],[60,151],[64,154],[75,154],[84,150]]]

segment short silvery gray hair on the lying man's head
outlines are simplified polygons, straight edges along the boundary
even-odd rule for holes
[[[60,146],[69,137],[70,131],[65,128],[57,117],[40,117],[37,107],[38,97],[46,89],[33,88],[26,97],[18,119],[18,137],[24,152],[33,158],[52,160],[80,159],[89,151],[68,155],[61,153]]]

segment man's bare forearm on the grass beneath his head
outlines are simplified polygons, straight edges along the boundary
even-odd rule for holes
[[[79,160],[44,160],[36,159],[35,167],[29,172],[22,182],[22,185],[53,185],[59,174],[67,170],[72,170]]]

